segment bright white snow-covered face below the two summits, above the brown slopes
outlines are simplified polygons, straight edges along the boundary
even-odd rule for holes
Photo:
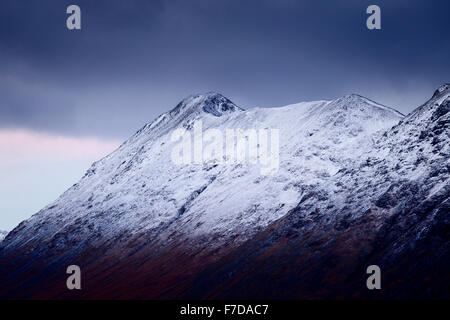
[[[104,241],[169,226],[190,237],[218,233],[243,240],[295,207],[311,185],[366,157],[379,131],[401,118],[358,95],[247,111],[219,94],[192,96],[94,163],[79,183],[21,224],[20,234],[28,237],[16,230],[6,246],[53,239],[59,247],[94,233]],[[251,165],[173,164],[170,134],[196,120],[204,130],[280,129],[279,172],[262,176]],[[74,224],[77,234],[67,235]]]

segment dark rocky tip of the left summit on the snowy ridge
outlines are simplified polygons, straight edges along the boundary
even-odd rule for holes
[[[197,94],[183,99],[171,112],[171,115],[180,113],[205,112],[220,117],[223,114],[241,111],[231,100],[217,92]]]

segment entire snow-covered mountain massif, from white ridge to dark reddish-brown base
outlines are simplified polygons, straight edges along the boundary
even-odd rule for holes
[[[216,93],[191,96],[11,231],[0,244],[0,287],[9,288],[0,295],[364,296],[354,280],[377,255],[374,264],[389,266],[431,246],[448,265],[449,95],[442,86],[406,117],[355,94],[249,110]],[[278,129],[277,172],[174,164],[172,133],[198,121],[244,136]],[[70,264],[88,289],[61,289]],[[322,282],[328,289],[315,287]]]

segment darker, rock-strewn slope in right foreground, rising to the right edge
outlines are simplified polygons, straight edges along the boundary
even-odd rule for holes
[[[448,299],[449,141],[446,84],[378,137],[366,158],[311,188],[283,218],[203,270],[190,294]],[[382,270],[380,291],[365,287],[369,265]],[[204,279],[219,285],[195,285]]]

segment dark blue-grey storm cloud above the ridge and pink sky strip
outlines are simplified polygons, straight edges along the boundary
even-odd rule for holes
[[[82,30],[65,27],[78,4]],[[382,30],[365,28],[369,4]],[[448,82],[448,1],[0,3],[0,127],[124,138],[191,94],[243,107],[357,92],[409,112]]]

